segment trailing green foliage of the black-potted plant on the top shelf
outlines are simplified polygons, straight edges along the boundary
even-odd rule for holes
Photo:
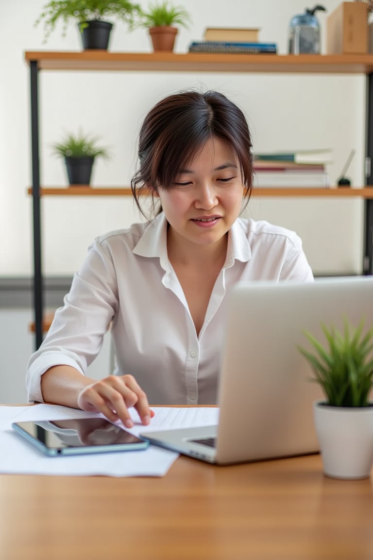
[[[82,32],[87,27],[87,21],[105,21],[107,17],[116,17],[132,29],[140,15],[140,5],[131,0],[51,0],[43,6],[35,25],[44,21],[45,43],[58,21],[63,22],[62,35],[65,36],[70,21],[78,22]]]

